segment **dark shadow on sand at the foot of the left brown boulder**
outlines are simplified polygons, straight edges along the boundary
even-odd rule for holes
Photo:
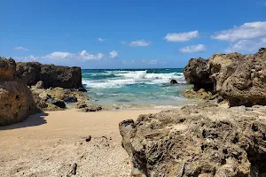
[[[15,123],[9,126],[0,127],[1,130],[10,130],[10,129],[16,129],[21,127],[35,127],[40,126],[42,124],[46,124],[46,120],[44,119],[45,116],[48,116],[48,113],[40,112],[33,115],[30,115],[27,119]]]

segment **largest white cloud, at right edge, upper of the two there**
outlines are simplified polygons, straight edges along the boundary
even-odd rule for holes
[[[222,41],[237,42],[262,36],[266,36],[266,21],[245,23],[240,27],[233,27],[232,29],[217,32],[211,37]]]

